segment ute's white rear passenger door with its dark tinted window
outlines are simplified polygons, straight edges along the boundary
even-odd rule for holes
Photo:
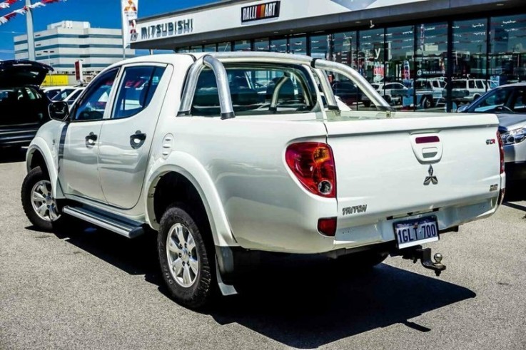
[[[98,174],[110,205],[130,209],[138,202],[169,76],[166,65],[123,67],[98,145]]]

